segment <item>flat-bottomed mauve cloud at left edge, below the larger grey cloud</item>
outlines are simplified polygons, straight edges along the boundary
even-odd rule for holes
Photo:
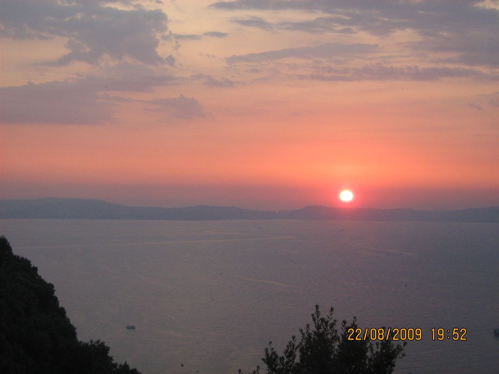
[[[28,82],[3,87],[0,89],[1,122],[101,124],[112,119],[115,103],[138,101],[109,93],[150,92],[155,86],[172,85],[181,80],[144,65],[122,63],[101,69],[99,75],[75,81]]]

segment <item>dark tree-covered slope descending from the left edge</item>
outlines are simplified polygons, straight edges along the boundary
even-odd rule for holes
[[[0,373],[140,374],[101,341],[78,341],[54,286],[0,237]]]

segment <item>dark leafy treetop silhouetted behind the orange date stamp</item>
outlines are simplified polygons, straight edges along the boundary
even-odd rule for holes
[[[319,306],[312,314],[313,325],[299,329],[299,341],[295,336],[287,343],[282,355],[272,347],[264,350],[261,359],[267,374],[390,374],[395,362],[405,356],[406,343],[394,344],[390,339],[376,343],[366,340],[348,340],[348,330],[357,329],[357,319],[350,324],[341,323],[338,333],[334,309],[323,317]],[[256,367],[250,374],[258,374]],[[242,374],[241,370],[239,371]]]

